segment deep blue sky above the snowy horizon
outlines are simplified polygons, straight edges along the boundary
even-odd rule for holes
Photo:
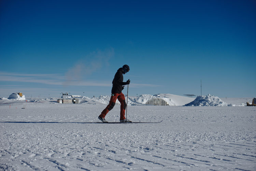
[[[0,97],[256,96],[256,1],[0,1]],[[126,86],[127,87],[127,86]],[[127,89],[123,90],[127,93]]]

